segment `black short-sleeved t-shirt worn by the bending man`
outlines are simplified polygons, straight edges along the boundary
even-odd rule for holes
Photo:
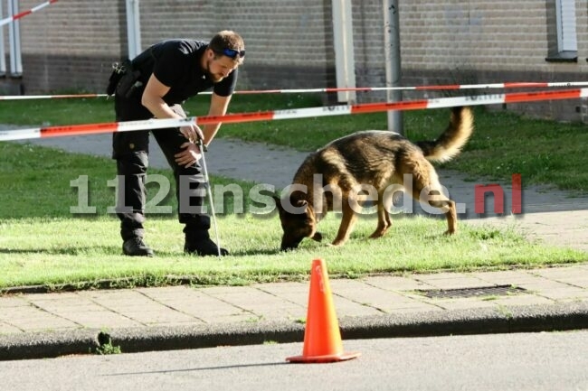
[[[213,88],[215,94],[228,97],[237,83],[237,70],[218,83],[213,83],[200,66],[207,42],[194,40],[169,40],[156,43],[133,60],[133,66],[141,71],[139,80],[147,85],[151,74],[169,91],[163,97],[168,105],[182,103],[198,92]]]

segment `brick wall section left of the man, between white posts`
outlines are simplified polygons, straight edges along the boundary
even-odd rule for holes
[[[38,4],[22,0],[20,9]],[[126,30],[120,30],[123,11],[123,2],[105,0],[97,7],[94,2],[70,0],[21,19],[25,92],[102,92],[110,64],[119,59],[121,42],[126,42]]]

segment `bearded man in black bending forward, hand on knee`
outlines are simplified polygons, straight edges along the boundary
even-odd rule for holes
[[[237,68],[245,50],[242,37],[232,31],[213,36],[211,42],[170,40],[142,52],[123,70],[116,83],[117,121],[182,118],[180,106],[186,98],[213,88],[209,116],[223,116],[237,81]],[[114,75],[114,73],[113,73]],[[112,88],[112,86],[109,86]],[[205,195],[202,157],[198,140],[210,144],[221,124],[195,124],[151,130],[174,171],[178,218],[184,224],[187,254],[218,255],[209,236],[210,217],[203,211]],[[119,186],[117,215],[120,219],[122,250],[127,256],[153,256],[144,241],[146,175],[149,131],[115,133],[113,158],[117,160]],[[222,255],[228,251],[220,249]]]

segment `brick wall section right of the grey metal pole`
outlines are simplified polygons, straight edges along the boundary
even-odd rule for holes
[[[401,3],[400,14],[404,85],[583,81],[588,71],[585,2],[576,1],[577,62],[545,61],[556,51],[555,0],[414,0]],[[438,94],[428,91],[420,98]],[[404,94],[405,98],[414,96]],[[582,106],[580,99],[568,99],[507,108],[533,116],[578,120]]]

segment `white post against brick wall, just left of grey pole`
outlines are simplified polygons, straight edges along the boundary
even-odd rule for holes
[[[356,55],[353,44],[351,0],[333,0],[333,44],[337,88],[356,87]],[[339,102],[356,102],[355,91],[337,92]]]

